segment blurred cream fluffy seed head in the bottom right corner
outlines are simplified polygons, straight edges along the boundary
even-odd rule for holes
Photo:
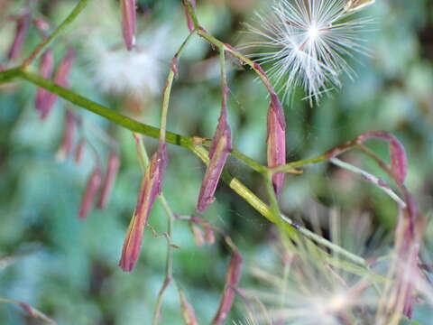
[[[422,223],[410,240],[400,222],[392,247],[381,232],[372,232],[365,214],[340,218],[334,211],[329,217],[332,242],[365,257],[368,268],[352,267],[337,253],[319,253],[302,238],[295,245],[279,241],[275,265],[266,267],[272,271],[254,266],[261,284],[242,290],[253,324],[399,324],[417,305],[431,304],[431,284],[418,267]]]

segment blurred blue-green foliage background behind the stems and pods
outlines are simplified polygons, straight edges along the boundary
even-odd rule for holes
[[[57,25],[77,1],[32,3],[35,13]],[[244,23],[270,2],[258,0],[198,0],[200,23],[217,38],[233,45],[243,42]],[[7,17],[20,14],[25,1],[0,0],[0,63],[14,37]],[[78,51],[70,88],[107,107],[144,123],[158,126],[160,95],[170,68],[170,57],[188,35],[178,0],[138,1],[138,51],[126,53],[117,1],[90,1],[69,31],[52,46],[56,61],[72,45]],[[431,0],[377,0],[359,13],[374,20],[371,32],[360,35],[369,56],[356,56],[355,80],[309,107],[298,91],[285,103],[289,161],[312,157],[365,131],[384,130],[396,135],[409,157],[407,185],[425,214],[432,211],[433,177],[433,2]],[[31,28],[23,57],[41,38]],[[266,159],[265,128],[268,98],[250,70],[229,61],[229,122],[234,146],[257,161]],[[7,63],[10,67],[14,62]],[[15,62],[16,64],[16,62]],[[0,257],[15,256],[14,264],[0,265],[0,296],[27,302],[65,325],[150,324],[165,268],[166,242],[149,231],[143,237],[139,263],[132,274],[117,266],[126,228],[134,210],[141,170],[130,132],[80,108],[85,132],[102,157],[106,144],[86,125],[98,125],[121,147],[122,167],[107,209],[93,210],[78,221],[78,206],[93,168],[87,150],[83,162],[58,162],[65,107],[59,100],[51,116],[41,121],[34,110],[35,88],[24,82],[0,87]],[[220,109],[217,52],[196,38],[180,60],[168,129],[181,135],[211,137]],[[152,153],[156,142],[145,139]],[[193,215],[204,173],[189,151],[169,145],[170,164],[163,192],[180,215]],[[386,144],[372,148],[387,158]],[[373,162],[359,153],[345,161],[378,175]],[[258,196],[265,198],[263,181],[243,163],[230,158],[229,168]],[[386,178],[386,177],[385,177]],[[243,285],[252,282],[251,265],[265,264],[272,254],[272,227],[226,185],[202,218],[224,228],[244,255]],[[355,175],[327,163],[289,176],[281,195],[281,209],[308,224],[312,214],[324,220],[329,209],[342,217],[368,213],[373,227],[392,234],[397,209],[381,190]],[[166,229],[166,216],[157,202],[150,223]],[[431,238],[432,229],[428,229]],[[431,240],[431,239],[430,239]],[[225,283],[229,252],[218,238],[213,246],[197,247],[188,224],[175,223],[172,241],[174,278],[195,307],[199,323],[209,323]],[[428,246],[427,246],[428,247]],[[237,302],[241,302],[237,300]],[[241,303],[240,303],[241,304]],[[242,317],[240,304],[234,319]],[[0,305],[0,324],[35,324],[14,306]],[[164,298],[162,324],[181,324],[177,292]],[[229,322],[227,322],[229,323]]]

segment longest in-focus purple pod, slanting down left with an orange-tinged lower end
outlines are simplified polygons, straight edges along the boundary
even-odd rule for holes
[[[134,270],[142,247],[143,230],[151,212],[156,197],[161,194],[161,182],[167,165],[167,150],[160,143],[158,151],[153,154],[151,163],[143,176],[142,186],[138,195],[137,206],[131,219],[119,266],[125,272]]]

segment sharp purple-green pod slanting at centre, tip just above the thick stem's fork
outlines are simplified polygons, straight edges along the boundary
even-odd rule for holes
[[[198,195],[198,212],[204,212],[208,205],[215,200],[215,190],[217,190],[218,181],[231,150],[232,135],[230,126],[227,123],[226,105],[223,104],[218,120],[217,131],[209,150],[210,161],[207,165],[205,177],[201,183],[201,189]]]

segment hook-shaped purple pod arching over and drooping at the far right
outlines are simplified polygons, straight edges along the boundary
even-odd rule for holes
[[[402,184],[408,174],[408,158],[403,145],[394,135],[386,132],[366,132],[359,135],[357,140],[364,143],[367,139],[375,137],[390,143],[391,170],[396,181]]]

